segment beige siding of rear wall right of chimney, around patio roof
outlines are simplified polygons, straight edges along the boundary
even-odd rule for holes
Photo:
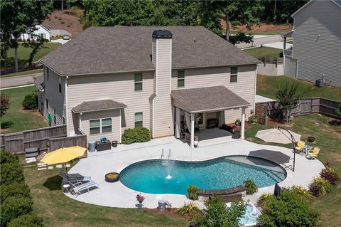
[[[177,72],[172,71],[172,89],[178,88]],[[238,66],[237,83],[230,83],[230,67],[216,67],[216,68],[190,68],[185,69],[185,89],[186,88],[204,88],[223,85],[240,97],[244,98],[251,104],[247,108],[246,115],[251,115],[251,110],[254,110],[254,95],[255,95],[255,78],[256,65],[242,65]],[[232,123],[237,118],[241,118],[242,110],[226,110],[225,122]]]

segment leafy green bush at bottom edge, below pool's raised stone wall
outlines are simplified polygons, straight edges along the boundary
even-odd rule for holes
[[[205,215],[195,216],[192,221],[195,226],[239,227],[239,218],[244,215],[247,205],[244,201],[232,201],[227,207],[222,196],[214,195],[205,201],[205,207]]]

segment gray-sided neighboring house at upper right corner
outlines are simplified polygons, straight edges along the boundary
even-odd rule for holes
[[[293,15],[292,50],[284,47],[284,72],[294,78],[341,87],[341,1],[309,1]]]

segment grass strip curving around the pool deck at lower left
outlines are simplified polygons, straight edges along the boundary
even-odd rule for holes
[[[60,190],[60,169],[37,171],[24,168],[26,183],[33,196],[33,212],[43,217],[46,226],[188,226],[188,220],[138,208],[110,208],[85,204],[65,196]],[[110,183],[114,184],[114,183]],[[90,192],[91,193],[91,192]],[[112,194],[111,198],[119,198]],[[157,204],[156,204],[157,206]]]

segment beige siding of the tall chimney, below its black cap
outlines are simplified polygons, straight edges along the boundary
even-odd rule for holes
[[[153,137],[173,134],[171,48],[171,39],[156,40],[156,97],[153,102]]]

